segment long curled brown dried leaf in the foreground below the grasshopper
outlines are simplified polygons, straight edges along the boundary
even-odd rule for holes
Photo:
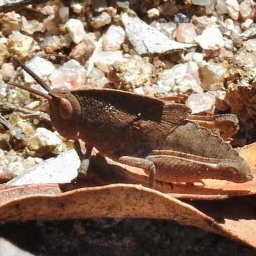
[[[63,193],[67,189],[67,186],[58,184],[3,189],[0,193],[0,221],[106,217],[169,219],[232,237],[256,248],[255,195],[245,197],[246,200],[239,197],[241,202],[238,205],[243,211],[237,207],[237,198],[216,200],[214,204],[210,201],[192,202],[212,218],[189,205],[190,201],[187,204],[140,185],[112,184]]]

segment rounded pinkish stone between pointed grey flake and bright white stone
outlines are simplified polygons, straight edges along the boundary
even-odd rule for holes
[[[176,39],[180,43],[193,43],[196,38],[195,26],[191,23],[179,24],[176,31]]]

